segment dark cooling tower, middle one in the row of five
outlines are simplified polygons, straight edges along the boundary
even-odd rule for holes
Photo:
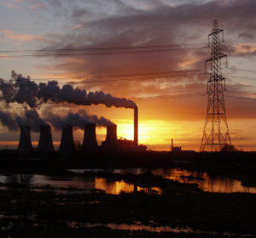
[[[63,125],[59,152],[69,154],[74,152],[74,150],[73,127],[70,124]]]

